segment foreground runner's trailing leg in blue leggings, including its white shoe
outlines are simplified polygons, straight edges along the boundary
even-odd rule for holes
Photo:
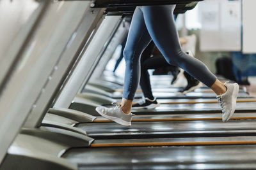
[[[173,18],[174,8],[175,5],[141,7],[148,33],[168,63],[181,67],[214,90],[221,104],[223,122],[227,122],[236,108],[239,87],[221,83],[203,62],[182,51]]]

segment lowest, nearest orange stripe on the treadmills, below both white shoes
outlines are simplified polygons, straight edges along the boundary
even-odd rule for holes
[[[159,142],[159,143],[96,143],[91,147],[118,147],[118,146],[188,146],[188,145],[248,145],[256,141],[207,141],[207,142]]]

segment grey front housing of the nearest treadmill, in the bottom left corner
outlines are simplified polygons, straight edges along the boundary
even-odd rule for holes
[[[22,129],[8,149],[0,169],[77,169],[77,164],[62,159],[72,147],[88,146],[92,138],[58,129]],[[19,164],[13,164],[19,162]]]

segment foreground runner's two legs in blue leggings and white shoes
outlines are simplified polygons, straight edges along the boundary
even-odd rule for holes
[[[132,101],[140,83],[140,56],[151,40],[166,61],[178,66],[210,87],[221,106],[222,120],[227,122],[236,109],[237,83],[221,83],[203,62],[182,51],[173,18],[173,5],[137,6],[124,49],[125,79],[122,102],[113,108],[97,107],[102,117],[131,126]]]

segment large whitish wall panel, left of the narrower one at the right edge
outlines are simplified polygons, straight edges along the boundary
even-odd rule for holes
[[[202,1],[198,10],[202,24],[200,50],[241,51],[241,0]]]

